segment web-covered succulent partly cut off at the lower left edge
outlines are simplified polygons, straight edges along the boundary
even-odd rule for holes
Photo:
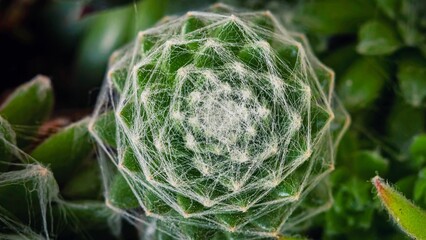
[[[48,168],[16,146],[15,132],[0,117],[0,239],[50,239],[51,204],[59,188]],[[18,159],[11,164],[7,158]],[[5,168],[13,168],[3,172]]]

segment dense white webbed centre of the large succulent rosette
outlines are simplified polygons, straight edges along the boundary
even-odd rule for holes
[[[195,89],[187,99],[192,131],[201,131],[209,140],[230,148],[256,136],[262,106],[250,89],[231,87],[226,82],[207,78],[202,89]],[[263,116],[266,117],[266,116]]]

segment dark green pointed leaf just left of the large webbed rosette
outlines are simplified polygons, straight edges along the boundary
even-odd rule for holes
[[[50,136],[31,153],[36,161],[52,170],[59,184],[68,180],[93,151],[87,124],[86,118],[68,126]]]

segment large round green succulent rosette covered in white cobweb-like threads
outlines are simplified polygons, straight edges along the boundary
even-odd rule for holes
[[[90,131],[107,205],[147,239],[271,239],[327,209],[333,72],[269,12],[167,18],[117,51]]]

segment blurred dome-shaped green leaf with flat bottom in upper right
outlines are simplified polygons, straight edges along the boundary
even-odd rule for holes
[[[362,25],[357,51],[363,55],[388,55],[401,47],[397,32],[390,24],[371,20]]]

